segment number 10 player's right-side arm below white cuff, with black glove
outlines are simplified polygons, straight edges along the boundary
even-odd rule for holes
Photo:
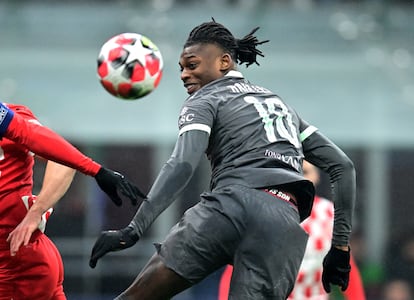
[[[332,247],[323,260],[322,283],[326,292],[331,284],[348,288],[350,266],[349,239],[355,206],[356,178],[351,159],[319,131],[302,141],[305,159],[329,174],[334,200]]]

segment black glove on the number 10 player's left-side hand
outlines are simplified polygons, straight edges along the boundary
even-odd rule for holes
[[[135,245],[139,237],[135,230],[131,227],[125,227],[121,230],[109,230],[101,232],[98,240],[92,248],[89,266],[96,267],[98,259],[111,251],[119,251]]]

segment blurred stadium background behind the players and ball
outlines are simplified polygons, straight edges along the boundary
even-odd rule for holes
[[[68,2],[68,1],[65,1]],[[390,278],[414,281],[413,1],[0,1],[0,98],[30,106],[79,149],[148,191],[168,159],[186,97],[178,56],[188,32],[214,17],[242,37],[260,26],[265,58],[240,70],[270,87],[339,144],[357,168],[352,247],[369,299]],[[150,37],[164,57],[159,88],[127,102],[98,83],[100,46],[121,32]],[[36,188],[44,163],[36,167]],[[88,267],[101,229],[125,226],[78,174],[47,232],[62,253],[69,299],[111,299],[127,287],[182,211],[208,185],[208,163],[135,247]],[[319,188],[330,197],[329,183]],[[410,273],[411,272],[411,273]],[[214,299],[218,274],[174,299]],[[333,296],[340,299],[340,296]]]

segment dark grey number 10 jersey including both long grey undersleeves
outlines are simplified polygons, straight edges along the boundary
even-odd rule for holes
[[[302,175],[303,158],[328,172],[335,202],[332,242],[349,243],[353,164],[276,94],[230,71],[186,99],[178,126],[175,149],[131,223],[139,235],[182,191],[205,151],[212,191],[228,185],[277,186],[296,195],[301,220],[309,216],[315,193]]]

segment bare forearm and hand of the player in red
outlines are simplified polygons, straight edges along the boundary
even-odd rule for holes
[[[42,188],[36,201],[28,210],[24,219],[9,234],[11,256],[16,255],[20,246],[27,245],[32,233],[39,227],[43,214],[52,208],[66,193],[76,170],[48,161],[43,178]]]

